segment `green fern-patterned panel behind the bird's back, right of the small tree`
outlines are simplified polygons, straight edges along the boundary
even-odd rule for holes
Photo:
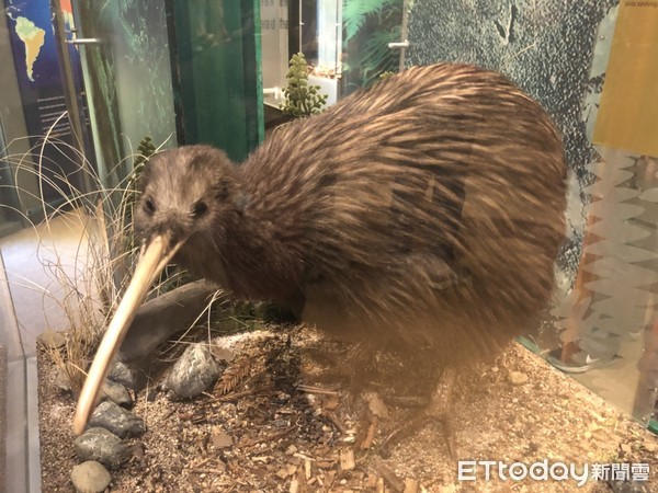
[[[402,0],[343,0],[343,62],[345,93],[376,82],[385,71],[397,71],[399,51],[388,43],[400,42]]]

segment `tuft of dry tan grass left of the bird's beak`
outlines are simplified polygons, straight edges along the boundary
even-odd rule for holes
[[[50,298],[65,314],[68,323],[65,345],[42,347],[56,363],[77,395],[84,381],[86,369],[116,309],[121,294],[129,282],[138,256],[131,221],[137,194],[136,173],[121,177],[118,170],[124,169],[127,162],[140,165],[148,156],[139,152],[139,149],[138,153],[117,163],[110,171],[110,176],[99,176],[86,156],[67,142],[52,137],[49,133],[29,151],[12,153],[12,148],[24,146],[29,138],[20,140],[10,142],[0,151],[13,177],[10,183],[0,182],[0,190],[13,188],[11,192],[15,192],[19,198],[18,207],[2,207],[10,209],[12,216],[20,216],[33,228],[38,241],[38,261],[61,294],[56,295],[53,289],[37,286],[30,279],[21,279],[19,283]],[[58,151],[58,162],[47,162],[49,158],[44,152],[46,146]],[[53,173],[53,169],[69,171],[64,175]],[[26,175],[29,179],[30,175],[36,177],[36,192],[14,185],[24,181]],[[118,182],[118,185],[106,186],[112,182]],[[77,183],[80,185],[76,185]],[[46,200],[46,190],[50,204]],[[55,202],[52,199],[53,191],[57,195]],[[37,202],[39,214],[34,214],[34,210],[33,214],[25,213],[26,206],[21,200]],[[56,205],[52,205],[53,203]],[[70,252],[60,251],[57,244],[49,241],[50,222],[56,217],[76,222],[83,231],[72,259]],[[149,296],[156,296],[164,287],[174,286],[181,275],[169,273],[167,279],[154,287]]]

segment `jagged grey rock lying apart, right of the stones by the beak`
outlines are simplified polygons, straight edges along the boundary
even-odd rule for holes
[[[224,369],[207,344],[192,344],[171,368],[164,388],[172,399],[194,398],[214,386]]]

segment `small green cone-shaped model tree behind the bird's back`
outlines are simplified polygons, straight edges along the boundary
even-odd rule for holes
[[[287,88],[283,89],[285,103],[281,111],[293,118],[304,118],[322,112],[327,104],[327,95],[319,94],[319,85],[308,84],[308,64],[304,54],[293,55],[290,61],[290,70],[285,78]]]

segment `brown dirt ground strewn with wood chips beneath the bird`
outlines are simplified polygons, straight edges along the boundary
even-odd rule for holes
[[[460,460],[521,462],[525,466],[517,466],[517,477],[523,467],[547,460],[548,467],[574,463],[578,474],[595,463],[647,463],[643,484],[658,492],[656,436],[515,343],[495,365],[458,376],[452,457],[440,424],[404,437],[383,457],[383,437],[407,422],[410,411],[399,401],[390,404],[385,387],[353,400],[345,386],[314,382],[318,369],[340,367],[336,362],[344,357],[344,347],[314,331],[272,328],[213,344],[232,360],[212,391],[186,402],[170,401],[157,385],[137,394],[133,411],[145,420],[147,432],[129,440],[129,461],[111,470],[111,491],[611,491],[605,481],[579,488],[571,477],[513,480],[503,470],[503,480],[498,463],[488,480],[486,466],[469,469],[469,463],[462,465],[462,473],[475,480],[457,478]],[[329,356],[318,363],[318,354]],[[46,493],[73,491],[69,474],[78,462],[75,403],[57,388],[54,374],[53,363],[39,355]],[[555,473],[563,475],[563,469]]]

